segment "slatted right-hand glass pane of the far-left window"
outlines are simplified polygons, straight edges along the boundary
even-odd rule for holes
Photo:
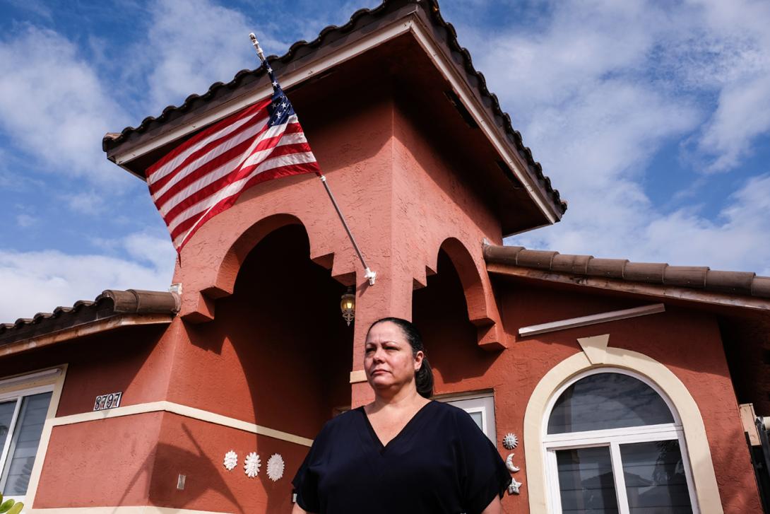
[[[18,422],[13,431],[11,453],[3,470],[3,496],[22,496],[27,492],[29,475],[35,463],[51,395],[52,393],[42,393],[27,396],[22,401],[22,410],[18,414]]]

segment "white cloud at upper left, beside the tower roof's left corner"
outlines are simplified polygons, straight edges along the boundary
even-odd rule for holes
[[[40,170],[96,183],[122,180],[124,173],[101,173],[112,168],[101,141],[124,117],[92,66],[62,35],[28,26],[0,42],[0,130]]]

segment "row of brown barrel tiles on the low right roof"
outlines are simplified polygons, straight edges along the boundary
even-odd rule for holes
[[[709,267],[670,266],[665,263],[634,263],[625,259],[597,259],[588,255],[559,254],[554,251],[490,244],[484,246],[484,260],[488,264],[770,298],[770,277],[759,277],[755,273],[745,271],[720,271],[711,270]]]

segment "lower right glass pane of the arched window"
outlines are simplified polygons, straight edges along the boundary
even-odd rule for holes
[[[631,514],[689,514],[690,495],[679,442],[621,445]]]

